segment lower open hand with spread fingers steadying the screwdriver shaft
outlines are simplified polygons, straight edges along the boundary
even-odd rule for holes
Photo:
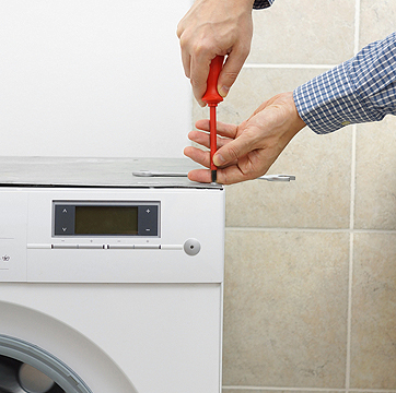
[[[209,147],[209,120],[198,120],[188,138]],[[282,93],[263,103],[249,119],[240,126],[218,122],[218,151],[213,163],[218,166],[219,183],[232,184],[256,179],[267,172],[292,138],[305,127],[294,105],[293,94]],[[188,146],[185,155],[210,167],[210,153]],[[188,174],[194,181],[211,182],[209,169]]]

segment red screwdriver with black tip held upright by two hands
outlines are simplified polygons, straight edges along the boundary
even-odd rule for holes
[[[224,56],[217,56],[210,63],[208,75],[207,91],[202,97],[202,102],[210,108],[209,132],[210,132],[210,170],[212,182],[217,181],[217,167],[213,164],[213,155],[217,146],[217,120],[216,108],[223,97],[218,92],[218,79],[221,69],[223,68]]]

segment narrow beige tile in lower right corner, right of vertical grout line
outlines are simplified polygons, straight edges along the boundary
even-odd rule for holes
[[[354,236],[351,388],[396,389],[396,234]]]

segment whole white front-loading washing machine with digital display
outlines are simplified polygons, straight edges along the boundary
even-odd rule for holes
[[[188,169],[0,158],[1,393],[220,393],[224,190]]]

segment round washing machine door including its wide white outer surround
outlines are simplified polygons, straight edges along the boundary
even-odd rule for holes
[[[51,315],[2,301],[5,293],[12,295],[7,289],[0,290],[0,393],[137,393],[86,336]]]

